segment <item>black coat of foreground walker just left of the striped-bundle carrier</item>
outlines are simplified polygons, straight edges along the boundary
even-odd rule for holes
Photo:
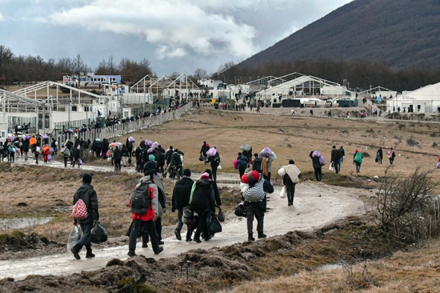
[[[194,212],[215,212],[215,195],[212,182],[209,179],[200,179],[194,183],[194,192],[190,202],[190,209]]]

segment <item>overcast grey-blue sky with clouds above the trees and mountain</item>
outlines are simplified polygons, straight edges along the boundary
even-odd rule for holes
[[[158,75],[215,72],[351,0],[0,0],[0,44],[15,55],[74,59],[96,69],[113,55]]]

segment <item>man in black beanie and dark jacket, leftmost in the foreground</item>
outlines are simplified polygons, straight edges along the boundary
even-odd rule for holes
[[[79,222],[83,235],[78,243],[72,247],[71,251],[76,259],[80,259],[79,251],[82,249],[82,246],[85,246],[85,249],[87,250],[85,257],[95,257],[92,253],[90,232],[92,231],[94,221],[99,221],[99,212],[98,197],[96,191],[93,189],[92,175],[90,174],[84,174],[82,176],[82,186],[75,192],[75,195],[73,196],[73,204],[75,205],[79,199],[84,201],[84,204],[87,207],[87,214],[89,215],[83,220],[74,221],[75,225]]]

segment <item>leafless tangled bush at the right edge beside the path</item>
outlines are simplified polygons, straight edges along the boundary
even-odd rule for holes
[[[379,190],[376,223],[390,240],[412,244],[440,235],[440,198],[433,170],[417,167],[409,177],[388,174]]]

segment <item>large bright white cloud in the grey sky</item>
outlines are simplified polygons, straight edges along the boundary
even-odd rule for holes
[[[177,0],[127,0],[111,6],[107,0],[52,13],[50,21],[91,31],[135,35],[157,46],[160,58],[185,56],[188,51],[209,56],[248,57],[259,51],[256,30],[233,16],[205,11],[197,3]],[[219,8],[221,8],[220,6]]]

